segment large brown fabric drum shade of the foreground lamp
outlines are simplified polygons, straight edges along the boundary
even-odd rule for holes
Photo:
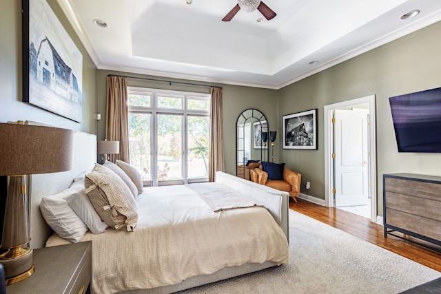
[[[72,141],[70,129],[0,123],[0,176],[68,171]]]

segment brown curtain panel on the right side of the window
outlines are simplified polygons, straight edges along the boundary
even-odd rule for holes
[[[208,181],[214,182],[216,171],[225,171],[223,155],[222,88],[212,87],[211,94]]]

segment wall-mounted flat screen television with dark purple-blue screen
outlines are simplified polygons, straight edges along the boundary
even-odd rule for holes
[[[441,88],[389,97],[399,152],[441,152]]]

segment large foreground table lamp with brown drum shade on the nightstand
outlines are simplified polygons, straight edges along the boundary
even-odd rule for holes
[[[72,167],[70,129],[0,123],[0,176],[9,176],[0,255],[6,284],[30,277],[32,264],[26,175],[68,171]]]

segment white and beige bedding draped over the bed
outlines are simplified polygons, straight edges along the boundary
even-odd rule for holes
[[[289,262],[287,238],[264,207],[214,212],[183,185],[145,188],[136,202],[134,232],[107,229],[82,240],[93,241],[94,293],[177,284],[248,262]],[[52,235],[46,246],[68,243]]]

